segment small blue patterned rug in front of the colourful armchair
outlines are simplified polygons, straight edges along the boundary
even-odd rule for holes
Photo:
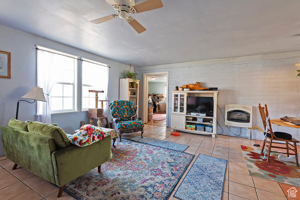
[[[145,136],[143,138],[141,138],[141,136],[136,136],[134,138],[131,138],[130,140],[134,140],[137,142],[142,142],[145,144],[154,145],[154,146],[158,146],[158,147],[173,149],[175,151],[180,151],[180,152],[184,152],[189,147],[188,145],[182,145],[182,144],[178,144],[178,143],[174,143],[174,142],[168,142],[168,141],[164,141],[164,140],[148,138]]]

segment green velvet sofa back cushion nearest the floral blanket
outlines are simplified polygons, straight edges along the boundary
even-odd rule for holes
[[[38,121],[29,121],[28,131],[30,133],[53,138],[57,149],[62,149],[72,145],[69,142],[66,133],[64,133],[64,131],[60,127],[54,125],[44,124]]]

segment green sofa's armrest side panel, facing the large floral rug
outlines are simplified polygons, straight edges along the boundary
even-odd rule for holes
[[[62,187],[110,160],[111,135],[85,147],[71,145],[52,153],[55,184]]]

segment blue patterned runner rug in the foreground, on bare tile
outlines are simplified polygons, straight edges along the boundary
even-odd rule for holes
[[[227,160],[199,154],[174,197],[181,200],[222,199]]]

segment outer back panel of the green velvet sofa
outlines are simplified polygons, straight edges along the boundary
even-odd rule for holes
[[[29,172],[55,184],[51,154],[56,151],[52,138],[2,126],[1,140],[7,158]]]

